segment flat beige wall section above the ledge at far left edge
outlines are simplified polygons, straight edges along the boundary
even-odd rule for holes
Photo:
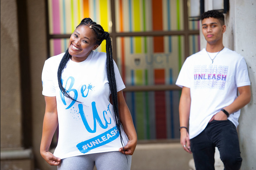
[[[1,0],[1,149],[22,147],[18,38],[16,1]]]

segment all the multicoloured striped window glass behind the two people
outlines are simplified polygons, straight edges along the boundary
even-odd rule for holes
[[[110,0],[48,2],[50,34],[71,34],[84,17],[92,18],[105,31],[112,30]],[[182,0],[115,0],[115,4],[117,32],[184,27]],[[199,25],[198,21],[189,21],[190,29],[198,29]],[[51,39],[51,56],[65,52],[68,41]],[[183,36],[118,37],[116,41],[116,63],[126,86],[175,83],[184,62]],[[199,36],[190,35],[189,54],[199,48]],[[104,43],[97,50],[105,51]],[[124,96],[139,139],[179,138],[179,91],[125,92]]]

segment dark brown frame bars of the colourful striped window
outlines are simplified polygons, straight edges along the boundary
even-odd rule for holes
[[[71,34],[50,34],[49,33],[49,15],[48,15],[48,0],[46,3],[46,25],[47,25],[47,57],[50,57],[50,40],[58,38],[70,38]],[[184,56],[185,59],[189,56],[189,35],[199,35],[199,30],[190,30],[188,28],[188,0],[183,0],[184,11],[184,29],[178,31],[147,31],[147,32],[116,32],[116,17],[115,17],[115,0],[110,0],[111,4],[111,19],[112,32],[109,36],[112,39],[112,53],[113,59],[116,61],[117,54],[117,37],[131,37],[131,36],[172,36],[182,35],[184,37]],[[180,90],[176,85],[152,85],[152,86],[127,86],[123,91],[158,91],[158,90]]]

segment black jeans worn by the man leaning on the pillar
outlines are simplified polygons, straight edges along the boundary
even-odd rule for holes
[[[196,170],[214,170],[215,146],[224,170],[239,170],[242,164],[235,125],[230,120],[213,120],[203,132],[190,139]]]

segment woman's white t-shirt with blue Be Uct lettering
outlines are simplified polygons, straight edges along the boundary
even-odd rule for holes
[[[115,123],[106,71],[106,53],[92,51],[82,62],[68,60],[61,79],[69,95],[64,97],[57,80],[57,71],[64,53],[47,59],[42,72],[44,96],[57,100],[59,139],[54,155],[68,158],[78,155],[118,151],[122,147]],[[125,88],[116,63],[117,91]],[[79,103],[81,102],[81,103]],[[128,138],[122,131],[124,145]]]

